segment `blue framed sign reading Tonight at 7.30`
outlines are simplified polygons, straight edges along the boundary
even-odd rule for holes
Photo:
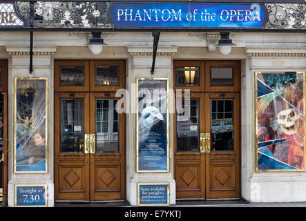
[[[16,207],[47,206],[47,185],[16,184],[15,206]]]

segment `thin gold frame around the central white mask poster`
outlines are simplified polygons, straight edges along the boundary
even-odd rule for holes
[[[139,170],[139,131],[138,131],[138,89],[139,89],[139,81],[140,80],[166,80],[166,91],[167,91],[167,95],[166,95],[166,164],[167,164],[167,169],[166,170],[156,170],[156,171],[151,171],[151,170]],[[139,77],[136,78],[136,110],[135,110],[135,121],[136,121],[136,127],[135,127],[135,133],[136,133],[136,137],[135,137],[135,143],[136,143],[136,147],[135,147],[135,151],[136,151],[136,157],[135,157],[135,167],[136,167],[136,172],[137,173],[169,173],[170,171],[170,156],[169,156],[169,78],[168,77]]]

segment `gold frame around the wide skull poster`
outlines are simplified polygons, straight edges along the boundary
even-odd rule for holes
[[[257,133],[257,128],[258,128],[258,111],[257,111],[257,93],[258,93],[258,85],[257,85],[257,75],[258,74],[276,74],[276,73],[279,73],[279,74],[285,74],[286,72],[282,71],[282,72],[278,72],[278,71],[275,71],[275,72],[266,72],[266,71],[260,71],[260,72],[255,72],[254,73],[254,84],[255,84],[255,87],[254,87],[254,143],[255,143],[255,151],[254,151],[254,155],[255,155],[255,162],[254,162],[254,168],[255,168],[255,172],[258,172],[258,173],[263,173],[263,172],[267,172],[267,173],[271,173],[271,172],[303,172],[303,171],[306,171],[306,151],[305,151],[305,144],[306,144],[306,125],[305,125],[305,110],[306,110],[306,107],[305,107],[305,72],[303,71],[296,71],[296,74],[302,74],[303,75],[303,101],[304,101],[304,104],[303,104],[303,114],[304,114],[304,169],[266,169],[266,170],[263,170],[263,169],[258,169],[258,133]]]

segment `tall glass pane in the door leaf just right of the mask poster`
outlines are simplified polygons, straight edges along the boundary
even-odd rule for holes
[[[190,106],[191,116],[178,113],[176,121],[178,152],[199,151],[199,99],[191,99],[190,103],[193,104]],[[185,108],[184,99],[182,100],[182,108]]]

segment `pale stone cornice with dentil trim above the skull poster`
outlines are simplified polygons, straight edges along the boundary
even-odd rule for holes
[[[249,57],[306,57],[300,48],[246,48]]]

